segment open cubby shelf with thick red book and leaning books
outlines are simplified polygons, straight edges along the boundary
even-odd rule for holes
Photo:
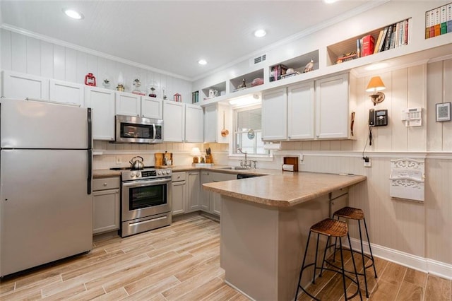
[[[327,47],[328,66],[402,47],[410,43],[411,18]]]

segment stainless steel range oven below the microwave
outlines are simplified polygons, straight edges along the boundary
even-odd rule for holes
[[[163,168],[121,171],[121,237],[171,225],[171,176]]]

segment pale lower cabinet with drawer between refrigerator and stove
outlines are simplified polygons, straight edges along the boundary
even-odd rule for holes
[[[93,179],[93,234],[119,229],[119,177]]]

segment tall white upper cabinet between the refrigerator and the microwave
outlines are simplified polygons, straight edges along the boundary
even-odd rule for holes
[[[85,86],[85,107],[93,115],[93,139],[114,141],[114,90]]]

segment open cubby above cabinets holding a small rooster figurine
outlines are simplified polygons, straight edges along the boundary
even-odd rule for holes
[[[281,61],[269,67],[269,81],[279,81],[319,69],[319,50]]]

